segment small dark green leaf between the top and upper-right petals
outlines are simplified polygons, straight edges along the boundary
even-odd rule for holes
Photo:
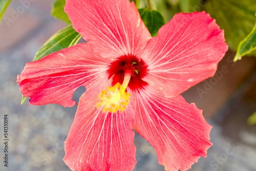
[[[156,36],[158,30],[164,25],[164,18],[160,13],[147,8],[139,9],[140,16],[152,36]]]

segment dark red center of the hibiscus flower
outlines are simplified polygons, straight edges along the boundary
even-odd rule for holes
[[[142,59],[139,60],[133,55],[125,55],[117,58],[111,63],[108,73],[109,78],[114,75],[112,86],[114,86],[117,82],[122,84],[124,74],[130,73],[132,76],[128,87],[131,90],[136,90],[142,89],[147,85],[147,82],[142,80],[142,78],[146,76],[147,71],[147,66]]]

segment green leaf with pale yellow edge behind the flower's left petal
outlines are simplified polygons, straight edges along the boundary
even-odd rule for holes
[[[49,55],[53,52],[57,52],[61,49],[74,46],[78,43],[81,36],[73,28],[72,25],[55,33],[47,42],[36,52],[33,59],[39,60],[42,57]],[[22,104],[25,102],[27,97],[22,95]]]

